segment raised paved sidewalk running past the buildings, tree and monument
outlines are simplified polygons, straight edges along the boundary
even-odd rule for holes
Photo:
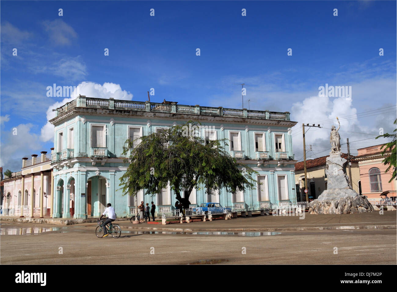
[[[304,219],[299,216],[253,216],[239,217],[229,220],[214,220],[206,222],[191,222],[183,224],[132,224],[129,218],[118,218],[116,223],[123,229],[146,231],[282,231],[282,230],[337,230],[337,229],[396,229],[396,212],[379,212],[310,215],[305,213]],[[62,218],[19,218],[1,217],[0,220],[12,222],[28,222],[54,225],[72,225],[96,223],[97,217],[89,219]]]

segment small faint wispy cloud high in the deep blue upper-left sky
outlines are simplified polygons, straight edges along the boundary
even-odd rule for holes
[[[77,38],[77,33],[66,22],[61,19],[53,21],[43,21],[44,29],[50,37],[50,41],[56,45],[71,45],[73,39]]]

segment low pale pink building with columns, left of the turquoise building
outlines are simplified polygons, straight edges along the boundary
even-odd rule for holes
[[[52,148],[53,149],[53,148]],[[4,197],[3,216],[44,217],[52,216],[52,166],[51,154],[42,151],[40,157],[22,159],[22,168],[2,180]]]

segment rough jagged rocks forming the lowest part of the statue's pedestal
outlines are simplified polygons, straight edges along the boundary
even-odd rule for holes
[[[333,190],[335,191],[335,190]],[[345,197],[336,200],[314,200],[309,203],[309,214],[350,214],[374,212],[365,196]]]

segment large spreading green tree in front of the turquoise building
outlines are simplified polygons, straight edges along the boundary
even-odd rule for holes
[[[193,188],[208,190],[225,188],[234,193],[256,186],[252,178],[256,171],[232,158],[223,144],[226,139],[206,140],[200,125],[194,122],[172,126],[158,133],[127,139],[123,155],[129,155],[127,171],[120,178],[123,195],[139,190],[157,194],[170,183],[184,208],[189,208]],[[139,144],[137,145],[137,142]],[[181,192],[185,190],[185,198]]]

